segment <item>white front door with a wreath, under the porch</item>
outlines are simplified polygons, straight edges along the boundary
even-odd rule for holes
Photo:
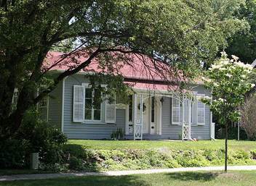
[[[143,134],[149,132],[149,115],[150,114],[150,102],[149,98],[143,99]],[[137,119],[140,119],[140,96],[137,96]]]

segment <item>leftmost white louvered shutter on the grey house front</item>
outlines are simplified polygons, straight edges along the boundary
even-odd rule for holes
[[[84,86],[73,86],[73,122],[84,122]]]

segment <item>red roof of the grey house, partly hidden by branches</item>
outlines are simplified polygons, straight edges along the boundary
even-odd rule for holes
[[[88,54],[80,53],[65,58],[64,53],[52,51],[47,54],[43,69],[73,69],[86,61],[87,56]],[[148,90],[177,90],[177,85],[170,86],[168,82],[183,80],[180,74],[175,75],[172,72],[169,65],[152,60],[148,56],[136,54],[126,54],[125,59],[120,62],[119,58],[116,57],[116,60],[113,59],[111,65],[100,63],[100,58],[97,58],[88,67],[82,69],[81,72],[122,75],[125,83],[128,83],[132,88]]]

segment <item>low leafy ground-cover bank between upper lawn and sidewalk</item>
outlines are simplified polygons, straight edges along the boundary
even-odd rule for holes
[[[86,158],[73,156],[69,161],[72,169],[76,170],[128,170],[128,169],[156,169],[156,168],[177,168],[177,167],[193,167],[193,166],[219,166],[223,164],[225,151],[223,149],[197,149],[197,150],[89,150],[85,147],[69,145],[69,153],[81,154],[84,149]],[[72,150],[71,150],[72,149]],[[75,152],[73,152],[75,151]],[[252,152],[251,152],[252,154]],[[230,164],[254,164],[249,153],[242,150],[230,151],[228,153],[228,161]],[[76,157],[76,158],[74,158]],[[86,163],[85,163],[86,162]]]

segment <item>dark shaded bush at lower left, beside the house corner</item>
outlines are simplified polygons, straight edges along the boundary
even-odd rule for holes
[[[28,111],[14,138],[0,143],[0,166],[28,167],[30,153],[38,152],[42,166],[55,166],[63,161],[67,138],[56,127],[39,119],[35,110]]]

